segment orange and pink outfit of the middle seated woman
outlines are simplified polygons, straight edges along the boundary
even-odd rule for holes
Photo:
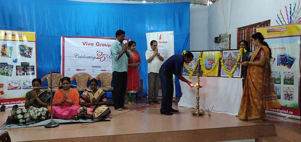
[[[55,105],[57,102],[61,101],[64,97],[63,91],[61,89],[56,90],[52,105]],[[64,101],[61,105],[59,106],[53,106],[52,109],[52,115],[56,118],[60,119],[70,119],[72,116],[77,115],[78,109],[80,108],[79,105],[79,94],[78,91],[75,88],[72,88],[70,92],[67,94],[68,100],[74,102],[73,105],[67,103]],[[51,113],[51,108],[48,108],[49,113]]]

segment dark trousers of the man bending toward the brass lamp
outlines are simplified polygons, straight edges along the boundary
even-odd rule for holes
[[[163,68],[159,70],[159,76],[162,87],[162,102],[160,111],[170,111],[172,108],[173,82],[172,73]]]

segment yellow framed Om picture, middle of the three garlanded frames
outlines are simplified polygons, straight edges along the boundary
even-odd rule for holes
[[[219,76],[219,53],[220,50],[206,50],[202,53],[203,70],[210,71],[215,63],[216,67],[207,76]]]

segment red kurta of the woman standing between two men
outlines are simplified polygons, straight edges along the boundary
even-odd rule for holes
[[[140,63],[140,54],[138,51],[134,50],[134,53],[128,59],[129,64]],[[138,67],[128,66],[128,80],[126,86],[126,93],[137,93],[140,89],[139,87],[139,69]]]

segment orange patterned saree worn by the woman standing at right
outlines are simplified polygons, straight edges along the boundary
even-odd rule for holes
[[[238,117],[240,119],[258,119],[266,116],[265,108],[280,108],[274,81],[271,75],[270,52],[266,46],[257,48],[251,56],[252,62],[257,53],[263,50],[265,66],[249,66],[244,86]]]

